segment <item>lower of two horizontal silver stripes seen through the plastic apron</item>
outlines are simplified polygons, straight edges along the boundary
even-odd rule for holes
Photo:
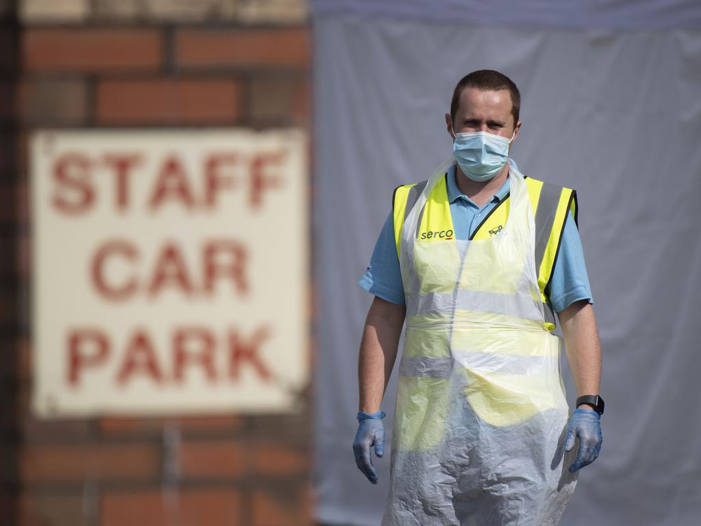
[[[453,358],[414,356],[402,358],[399,374],[405,377],[449,378],[454,367],[463,367],[477,373],[529,375],[542,371],[545,363],[556,363],[557,356],[523,356],[503,353],[474,353],[451,349]],[[553,365],[554,367],[554,365]]]

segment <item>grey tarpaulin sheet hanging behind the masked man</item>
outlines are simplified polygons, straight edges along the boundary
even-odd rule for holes
[[[524,125],[512,149],[519,168],[579,196],[606,413],[601,457],[580,474],[562,524],[698,523],[701,30],[640,26],[515,29],[358,9],[316,13],[320,522],[379,524],[389,453],[374,486],[351,450],[358,343],[372,299],[356,282],[393,188],[426,179],[450,154],[443,114],[456,81],[488,67],[522,91]],[[564,377],[572,403],[569,372]],[[382,406],[388,428],[395,389],[393,379]]]

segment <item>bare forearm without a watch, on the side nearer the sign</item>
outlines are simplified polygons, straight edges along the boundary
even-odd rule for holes
[[[358,409],[379,411],[392,374],[406,308],[375,297],[367,313],[358,357]]]

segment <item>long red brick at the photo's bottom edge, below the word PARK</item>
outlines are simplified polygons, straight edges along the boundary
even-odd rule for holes
[[[108,492],[102,498],[101,526],[236,526],[240,495],[232,490],[182,490],[168,493]]]

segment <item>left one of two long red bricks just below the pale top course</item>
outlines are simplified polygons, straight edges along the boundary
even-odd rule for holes
[[[22,64],[29,71],[149,71],[161,65],[156,29],[27,29]]]

